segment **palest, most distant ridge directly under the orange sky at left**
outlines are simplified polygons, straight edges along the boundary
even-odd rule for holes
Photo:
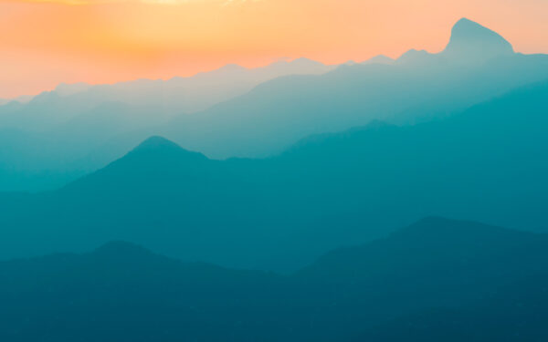
[[[286,75],[320,75],[334,67],[307,58],[279,61],[267,67],[227,65],[189,78],[138,79],[112,85],[60,84],[32,98],[28,105],[0,108],[0,127],[48,130],[104,103],[153,108],[165,114],[184,114],[247,93],[260,83]],[[42,112],[37,108],[42,107]],[[57,109],[53,111],[53,109]],[[44,122],[36,120],[44,118]]]

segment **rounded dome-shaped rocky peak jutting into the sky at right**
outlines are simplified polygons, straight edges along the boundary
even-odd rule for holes
[[[451,30],[444,57],[463,62],[488,60],[513,54],[511,44],[498,33],[467,18],[458,20]]]

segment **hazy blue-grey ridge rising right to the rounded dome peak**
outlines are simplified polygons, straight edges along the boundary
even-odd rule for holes
[[[462,19],[439,54],[410,50],[390,63],[345,65],[321,77],[279,78],[250,93],[177,117],[163,133],[212,158],[258,157],[311,134],[382,119],[439,118],[548,78],[548,57],[513,53],[490,29]]]

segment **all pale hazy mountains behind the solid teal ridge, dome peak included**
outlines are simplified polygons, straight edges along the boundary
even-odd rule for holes
[[[153,135],[214,159],[267,157],[310,135],[375,119],[443,118],[545,79],[547,56],[514,53],[503,37],[463,19],[439,54],[410,50],[395,61],[374,57],[335,69],[306,59],[254,70],[227,66],[195,78],[85,91],[80,85],[76,93],[61,87],[27,105],[0,107],[0,127],[26,135],[21,142],[0,130],[0,143],[17,150],[0,159],[0,189],[54,189]],[[197,112],[181,114],[184,106]]]

